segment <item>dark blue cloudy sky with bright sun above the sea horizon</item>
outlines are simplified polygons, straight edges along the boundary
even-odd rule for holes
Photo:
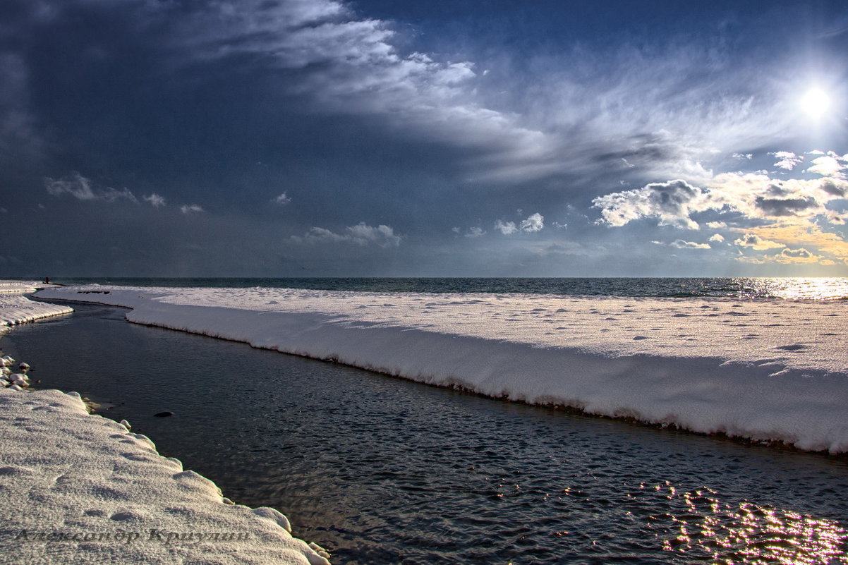
[[[848,276],[848,4],[0,0],[0,277]]]

